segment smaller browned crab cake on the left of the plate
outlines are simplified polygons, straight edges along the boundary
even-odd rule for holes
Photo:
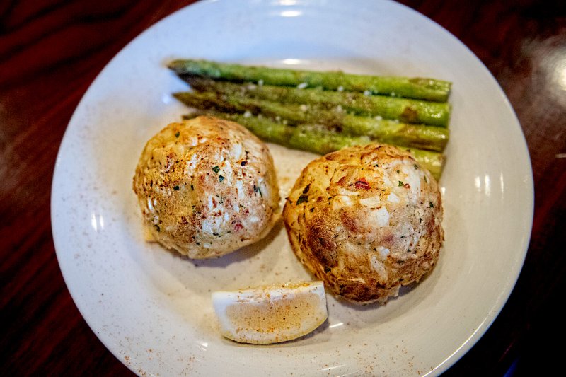
[[[273,226],[279,190],[267,146],[214,117],[171,123],[146,144],[134,192],[152,236],[190,258],[249,245]]]

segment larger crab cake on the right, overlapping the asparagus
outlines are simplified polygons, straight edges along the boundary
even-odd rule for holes
[[[437,262],[437,181],[394,146],[354,146],[304,168],[283,209],[299,260],[333,294],[384,303]]]

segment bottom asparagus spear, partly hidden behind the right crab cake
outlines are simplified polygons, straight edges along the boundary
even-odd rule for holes
[[[354,137],[332,130],[318,124],[299,124],[297,127],[282,124],[265,117],[253,115],[242,115],[238,113],[219,112],[216,110],[197,110],[191,115],[184,115],[183,118],[191,118],[196,115],[208,114],[221,119],[238,122],[253,134],[267,142],[280,144],[294,149],[301,149],[318,154],[337,151],[345,146],[370,144],[369,137]],[[417,163],[423,168],[427,168],[432,176],[439,180],[444,167],[444,155],[433,151],[422,149],[407,148],[399,146],[400,149],[410,151]]]

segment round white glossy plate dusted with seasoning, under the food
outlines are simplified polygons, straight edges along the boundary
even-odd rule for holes
[[[434,272],[386,306],[329,297],[328,323],[295,342],[223,339],[211,291],[310,277],[281,226],[253,247],[207,261],[142,239],[132,177],[146,140],[185,111],[171,93],[186,86],[165,68],[176,57],[453,81],[441,180],[446,243]],[[313,156],[272,152],[287,177],[282,190]],[[485,66],[424,16],[371,0],[204,1],[165,18],[117,54],[84,95],[52,190],[57,257],[76,305],[132,371],[161,376],[440,373],[507,300],[532,215],[524,137]]]

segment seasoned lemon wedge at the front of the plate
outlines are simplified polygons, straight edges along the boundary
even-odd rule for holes
[[[217,291],[212,304],[222,335],[241,343],[294,340],[328,318],[323,282]]]

